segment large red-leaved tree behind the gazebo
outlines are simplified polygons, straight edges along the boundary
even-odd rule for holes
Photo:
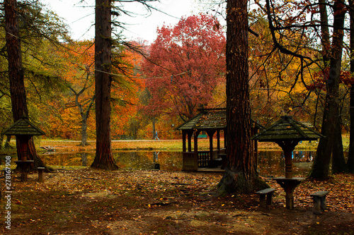
[[[151,95],[149,116],[169,114],[186,121],[198,108],[212,105],[212,93],[224,76],[223,34],[216,18],[202,14],[157,30],[142,64]]]

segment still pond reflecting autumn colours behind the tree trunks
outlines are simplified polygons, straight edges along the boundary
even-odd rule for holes
[[[293,175],[304,176],[312,167],[313,151],[293,152]],[[95,157],[94,152],[47,152],[40,155],[45,164],[50,166],[84,166],[89,167]],[[115,151],[113,157],[122,169],[154,169],[159,164],[164,171],[181,171],[182,152],[154,151]],[[13,157],[12,161],[15,160]],[[0,164],[5,159],[0,157]],[[14,164],[14,163],[13,163]],[[258,171],[262,176],[281,176],[285,171],[282,151],[258,151]]]

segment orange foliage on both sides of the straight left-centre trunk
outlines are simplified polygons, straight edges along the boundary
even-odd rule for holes
[[[77,102],[84,110],[88,109],[89,101],[94,95],[94,44],[90,41],[67,44],[66,51],[57,52],[62,58],[62,73],[60,76],[66,81],[67,90],[61,94],[61,99],[50,101],[56,110],[48,118],[47,136],[50,138],[76,139],[81,138],[81,117]],[[113,58],[114,59],[114,58]],[[137,90],[142,87],[139,74],[134,68],[139,64],[139,54],[122,50],[116,58],[119,69],[113,68],[112,87],[112,138],[118,139],[125,135],[127,123],[135,115]],[[117,62],[117,61],[116,61]],[[125,74],[122,74],[122,70]],[[87,133],[91,139],[95,138],[94,105],[91,107],[87,119]]]

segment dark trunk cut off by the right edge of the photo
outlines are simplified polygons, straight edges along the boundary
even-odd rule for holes
[[[354,73],[354,1],[349,1],[350,6],[350,73]],[[348,171],[354,173],[354,86],[350,88],[350,138],[348,153]]]

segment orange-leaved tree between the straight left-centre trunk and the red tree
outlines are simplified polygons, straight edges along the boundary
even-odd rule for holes
[[[143,48],[137,42],[129,42],[129,46],[119,45],[113,50],[113,73],[117,74],[112,83],[112,137],[125,138],[137,136],[139,117],[137,114],[139,94],[144,90],[144,79],[141,78],[140,64],[142,54],[137,52]],[[132,48],[133,47],[133,48]]]

